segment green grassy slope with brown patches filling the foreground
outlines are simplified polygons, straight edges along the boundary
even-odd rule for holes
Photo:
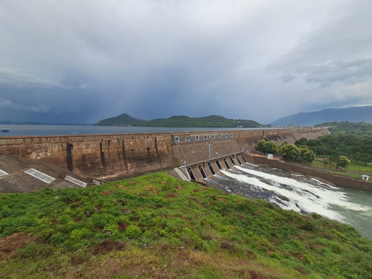
[[[371,278],[351,226],[165,172],[1,194],[1,278]]]

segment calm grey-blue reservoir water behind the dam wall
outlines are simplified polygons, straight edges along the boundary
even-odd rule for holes
[[[118,127],[92,125],[0,125],[0,136],[53,136],[53,135],[94,135],[94,134],[122,134],[122,133],[170,133],[186,131],[241,131],[268,128],[175,128],[175,127]],[[276,128],[277,129],[277,128]]]

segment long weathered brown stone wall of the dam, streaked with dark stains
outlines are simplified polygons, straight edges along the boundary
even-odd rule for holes
[[[329,134],[324,127],[244,131],[1,137],[0,152],[84,175],[109,178],[207,162],[243,150],[260,139],[294,143]],[[210,158],[208,144],[210,143]],[[221,139],[218,139],[219,136]],[[186,142],[189,137],[190,142]],[[204,137],[206,138],[204,140]],[[175,139],[180,140],[175,143]],[[199,140],[196,140],[199,139]],[[220,162],[225,167],[223,162]],[[213,162],[216,169],[216,164]],[[207,167],[203,165],[207,173]],[[194,172],[199,171],[195,169]],[[198,174],[195,174],[198,175]]]

